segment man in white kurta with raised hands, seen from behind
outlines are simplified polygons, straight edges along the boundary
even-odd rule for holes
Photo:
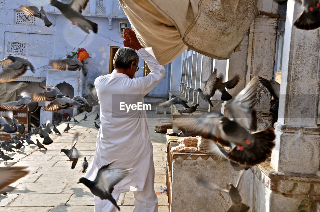
[[[124,46],[137,49],[151,72],[145,77],[131,79],[133,75],[119,73],[115,69],[111,74],[95,80],[94,85],[100,102],[101,125],[96,151],[85,177],[94,180],[101,166],[118,159],[114,167],[132,170],[114,187],[113,198],[118,201],[120,193],[133,191],[133,211],[157,212],[153,147],[146,110],[128,110],[125,106],[122,107],[124,110],[121,110],[120,104],[144,104],[143,97],[162,80],[165,70],[157,62],[151,47],[140,48],[142,46],[129,28],[125,29],[124,38]],[[138,67],[137,64],[138,61],[132,68],[133,74]],[[94,197],[94,205],[95,212],[116,211],[116,207],[109,200],[101,200],[97,196]]]

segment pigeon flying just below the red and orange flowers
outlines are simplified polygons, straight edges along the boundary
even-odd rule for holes
[[[76,57],[72,57],[71,55],[67,55],[62,57],[59,60],[50,60],[49,65],[57,70],[69,70],[69,71],[77,71],[82,70],[84,76],[87,76],[87,71],[84,68],[84,65],[78,60]]]

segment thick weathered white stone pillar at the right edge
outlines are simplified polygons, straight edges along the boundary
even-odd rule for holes
[[[320,167],[319,104],[320,29],[292,24],[301,4],[288,1],[284,32],[276,147],[271,166],[279,172],[317,174]]]

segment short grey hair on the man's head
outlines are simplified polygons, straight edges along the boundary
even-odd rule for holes
[[[129,47],[120,47],[113,58],[113,66],[116,68],[129,68],[132,61],[139,63],[139,56],[134,49]]]

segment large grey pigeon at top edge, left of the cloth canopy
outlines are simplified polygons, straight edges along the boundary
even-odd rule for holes
[[[72,24],[78,25],[84,32],[89,34],[90,29],[93,33],[98,33],[98,24],[81,15],[88,2],[89,0],[73,0],[69,4],[64,4],[57,0],[51,0],[50,5],[57,7],[64,17],[69,19]]]

